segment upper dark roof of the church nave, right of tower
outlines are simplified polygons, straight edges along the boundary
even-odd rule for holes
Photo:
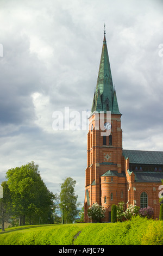
[[[163,164],[162,151],[143,151],[123,149],[125,159],[129,158],[130,163],[141,164]]]

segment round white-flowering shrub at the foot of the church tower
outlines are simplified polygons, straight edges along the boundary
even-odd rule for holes
[[[105,209],[98,203],[95,203],[87,210],[87,215],[93,222],[100,222],[101,218],[105,217]]]

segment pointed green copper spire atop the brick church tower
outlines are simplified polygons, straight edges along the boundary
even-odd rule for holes
[[[121,114],[118,108],[116,92],[112,84],[108,48],[104,35],[101,61],[99,65],[96,92],[93,97],[91,112],[111,111],[112,114]]]

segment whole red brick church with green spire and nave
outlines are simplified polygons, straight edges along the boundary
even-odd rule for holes
[[[107,113],[110,113],[110,119]],[[154,218],[159,218],[163,152],[124,150],[121,115],[112,84],[104,33],[97,86],[89,118],[90,129],[87,133],[85,222],[90,222],[87,209],[96,202],[106,209],[103,222],[110,221],[111,205],[122,201],[126,207],[128,204],[140,208],[151,206]]]

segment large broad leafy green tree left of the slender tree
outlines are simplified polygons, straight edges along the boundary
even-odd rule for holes
[[[19,217],[20,225],[39,223],[40,218],[47,222],[52,213],[54,194],[49,192],[41,179],[38,165],[33,161],[21,167],[9,169],[6,178],[11,193],[14,215]]]

